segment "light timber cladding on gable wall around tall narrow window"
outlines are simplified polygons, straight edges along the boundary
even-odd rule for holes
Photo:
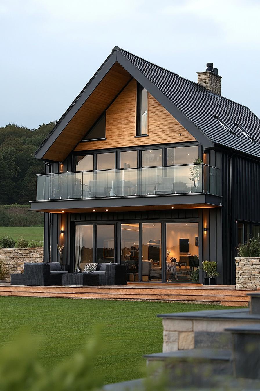
[[[195,141],[152,95],[148,99],[148,137],[136,135],[136,81],[132,80],[106,111],[106,140],[81,142],[74,151]]]

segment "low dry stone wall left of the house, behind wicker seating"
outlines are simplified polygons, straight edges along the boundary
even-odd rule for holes
[[[43,262],[43,247],[35,248],[0,248],[0,259],[5,260],[9,268],[7,282],[12,273],[21,273],[25,262]]]

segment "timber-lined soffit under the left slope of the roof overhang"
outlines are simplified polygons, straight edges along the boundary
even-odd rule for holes
[[[115,63],[43,158],[63,161],[130,79],[131,75],[119,63]]]

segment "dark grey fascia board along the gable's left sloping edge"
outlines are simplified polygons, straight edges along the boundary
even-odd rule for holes
[[[88,99],[88,97],[92,94],[98,84],[102,81],[105,75],[109,72],[111,67],[117,61],[117,52],[113,52],[111,57],[106,61],[106,63],[99,70],[94,79],[89,83],[87,88],[83,91],[80,97],[76,100],[73,106],[69,109],[68,113],[62,118],[62,120],[58,123],[58,126],[50,135],[50,137],[46,140],[46,142],[42,145],[42,147],[36,152],[35,158],[42,159],[44,154],[48,151],[51,145],[55,142],[57,137],[62,133],[63,129],[67,126],[67,124],[71,121],[77,111],[81,108],[83,103]],[[72,146],[73,149],[74,145]]]

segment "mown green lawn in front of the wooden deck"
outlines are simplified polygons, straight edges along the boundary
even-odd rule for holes
[[[101,326],[101,351],[94,371],[104,383],[143,376],[145,353],[162,352],[162,319],[157,314],[223,306],[142,301],[0,297],[0,347],[21,330],[43,337],[39,357],[47,367],[81,350]],[[232,307],[227,307],[232,308]]]

